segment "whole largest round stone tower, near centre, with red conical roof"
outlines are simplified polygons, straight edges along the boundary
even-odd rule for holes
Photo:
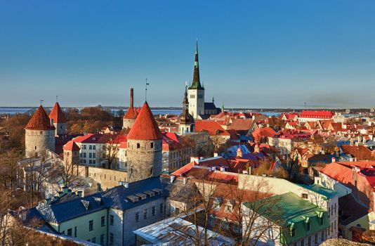
[[[128,134],[129,182],[162,174],[162,138],[154,115],[145,102]]]

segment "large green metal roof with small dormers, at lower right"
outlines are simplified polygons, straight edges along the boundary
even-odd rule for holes
[[[329,227],[328,215],[324,209],[291,192],[254,203],[244,202],[244,206],[279,225],[280,242],[284,244],[301,240]],[[291,235],[292,228],[295,229],[294,236]]]

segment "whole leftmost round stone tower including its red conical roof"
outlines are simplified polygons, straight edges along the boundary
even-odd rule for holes
[[[44,155],[46,150],[55,152],[55,127],[40,105],[25,127],[25,155]]]

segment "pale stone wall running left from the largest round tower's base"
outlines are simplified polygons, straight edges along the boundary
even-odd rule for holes
[[[128,174],[126,173],[126,171],[79,165],[78,173],[81,176],[88,176],[96,181],[101,190],[107,190],[107,188],[110,189],[114,186],[119,186],[120,181],[128,181]]]

